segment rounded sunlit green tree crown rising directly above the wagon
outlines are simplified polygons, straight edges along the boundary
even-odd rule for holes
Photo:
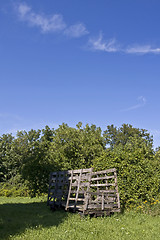
[[[62,124],[55,130],[47,157],[55,163],[56,169],[88,168],[104,151],[101,129],[95,125],[81,126],[81,123],[77,128]]]

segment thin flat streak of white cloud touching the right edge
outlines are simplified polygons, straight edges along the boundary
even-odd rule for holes
[[[160,54],[160,48],[152,48],[150,45],[128,47],[124,51],[126,53],[131,53],[131,54],[147,54],[147,53]]]

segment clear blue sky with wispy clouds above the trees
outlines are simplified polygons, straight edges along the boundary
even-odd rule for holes
[[[123,123],[160,146],[159,0],[1,0],[0,134]]]

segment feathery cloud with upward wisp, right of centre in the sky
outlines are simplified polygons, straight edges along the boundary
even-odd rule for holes
[[[115,39],[110,39],[108,41],[103,40],[103,36],[100,33],[98,38],[90,38],[89,39],[89,48],[91,50],[100,50],[104,52],[118,52],[120,49],[116,44]]]

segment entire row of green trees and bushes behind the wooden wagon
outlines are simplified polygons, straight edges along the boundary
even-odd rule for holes
[[[159,196],[160,147],[130,124],[94,124],[17,131],[0,136],[0,195],[35,196],[48,191],[49,173],[93,167],[116,168],[122,206]]]

